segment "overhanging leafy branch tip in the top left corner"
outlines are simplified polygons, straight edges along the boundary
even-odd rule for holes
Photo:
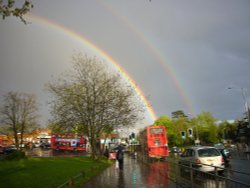
[[[33,4],[29,0],[25,0],[20,8],[17,8],[15,4],[15,0],[0,0],[0,15],[2,15],[3,19],[9,16],[18,17],[23,23],[26,24],[27,22],[23,16],[27,14],[31,8],[33,8]]]

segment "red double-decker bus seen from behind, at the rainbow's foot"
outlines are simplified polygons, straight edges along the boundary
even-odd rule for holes
[[[139,133],[142,155],[150,158],[164,158],[169,155],[166,127],[153,125]]]

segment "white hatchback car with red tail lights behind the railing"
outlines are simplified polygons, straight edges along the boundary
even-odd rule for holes
[[[225,168],[225,162],[220,151],[210,146],[187,148],[181,154],[180,163],[187,166],[192,163],[192,167],[202,172],[213,172],[215,167],[218,167],[219,172],[223,172]]]

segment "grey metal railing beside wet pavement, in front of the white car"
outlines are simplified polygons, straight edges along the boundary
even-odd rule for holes
[[[202,172],[195,168],[195,164],[185,161],[185,165],[178,158],[167,158],[171,164],[170,179],[179,187],[191,188],[248,188],[250,184],[237,177],[249,179],[250,174],[231,170],[229,168],[214,167],[214,172]],[[188,163],[187,163],[188,162]],[[186,165],[188,164],[188,165]],[[206,165],[206,164],[202,164]],[[211,166],[211,165],[208,165]],[[223,172],[223,173],[222,173]]]

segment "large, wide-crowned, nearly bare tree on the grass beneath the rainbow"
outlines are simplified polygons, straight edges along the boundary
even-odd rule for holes
[[[87,135],[92,157],[98,157],[99,136],[142,118],[144,107],[119,74],[114,74],[96,58],[78,54],[73,70],[50,82],[48,90],[55,125],[64,130],[76,128]]]

